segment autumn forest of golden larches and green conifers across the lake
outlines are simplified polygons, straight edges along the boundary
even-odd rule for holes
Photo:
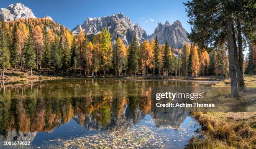
[[[89,36],[88,36],[89,37]],[[54,74],[85,76],[169,75],[228,76],[225,47],[210,54],[193,44],[174,49],[155,40],[138,42],[129,47],[112,37],[106,28],[88,38],[82,29],[73,35],[53,20],[36,18],[1,22],[1,77],[7,68],[49,70]]]

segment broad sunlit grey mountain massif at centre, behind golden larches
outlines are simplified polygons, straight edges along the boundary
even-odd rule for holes
[[[138,36],[139,41],[146,40],[146,31],[141,28],[138,23],[135,25],[133,22],[123,15],[118,13],[116,15],[110,15],[102,18],[87,18],[82,25],[77,25],[72,33],[77,34],[79,28],[82,28],[87,34],[97,34],[102,28],[108,28],[110,34],[112,34],[113,40],[117,35],[123,40],[125,45],[131,44],[135,33]]]

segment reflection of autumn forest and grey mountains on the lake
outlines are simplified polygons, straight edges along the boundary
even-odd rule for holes
[[[37,134],[51,133],[61,125],[68,125],[71,119],[89,132],[132,127],[147,115],[156,128],[179,127],[189,113],[182,108],[156,107],[156,101],[151,100],[152,87],[206,85],[124,79],[1,82],[0,141],[32,142]]]

